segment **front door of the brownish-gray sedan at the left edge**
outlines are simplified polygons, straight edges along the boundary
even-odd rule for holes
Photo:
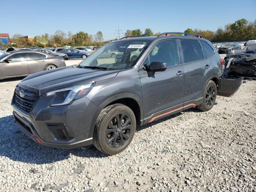
[[[12,54],[6,59],[11,60],[1,63],[1,70],[4,77],[29,74],[26,52]]]

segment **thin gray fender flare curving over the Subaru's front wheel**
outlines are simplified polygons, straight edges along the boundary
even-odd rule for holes
[[[108,98],[102,104],[100,104],[98,106],[98,109],[94,113],[94,116],[93,116],[91,124],[90,124],[89,138],[91,138],[93,136],[96,120],[97,120],[98,116],[100,115],[101,110],[104,109],[106,106],[108,106],[108,104],[110,104],[116,100],[124,99],[124,98],[134,99],[138,103],[139,108],[140,108],[140,119],[141,120],[143,119],[142,100],[137,95],[131,94],[131,93],[122,93],[122,94],[115,95],[113,97]]]

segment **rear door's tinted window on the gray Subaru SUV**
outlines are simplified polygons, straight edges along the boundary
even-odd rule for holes
[[[184,63],[203,59],[203,52],[197,40],[180,40],[180,44]]]

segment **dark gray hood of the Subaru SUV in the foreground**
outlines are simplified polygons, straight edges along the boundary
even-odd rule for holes
[[[41,96],[46,92],[61,88],[114,78],[119,71],[100,71],[76,68],[76,66],[62,67],[31,74],[24,78],[18,86],[33,90],[37,96]]]

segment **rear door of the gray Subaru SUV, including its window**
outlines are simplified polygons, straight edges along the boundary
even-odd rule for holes
[[[198,40],[180,39],[179,42],[185,69],[184,105],[198,104],[197,100],[202,97],[204,86],[210,77],[211,64],[204,58]]]

